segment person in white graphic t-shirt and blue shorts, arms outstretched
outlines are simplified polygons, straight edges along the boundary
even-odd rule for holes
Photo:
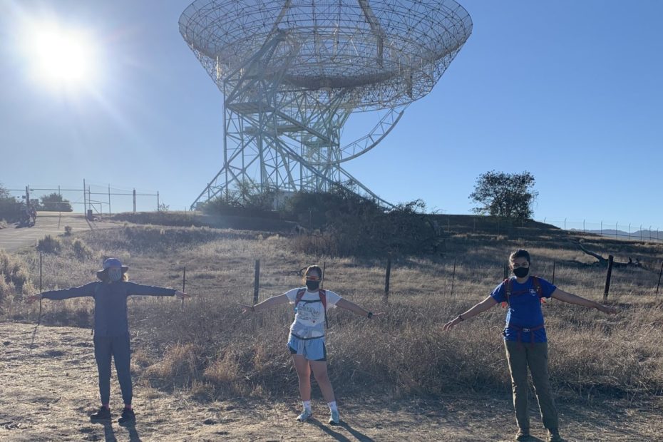
[[[297,421],[304,422],[313,416],[311,410],[311,371],[313,371],[322,390],[322,396],[329,405],[331,412],[329,423],[338,425],[341,419],[334,399],[334,389],[327,374],[327,349],[324,345],[327,309],[341,307],[369,319],[381,313],[369,312],[334,292],[320,289],[322,269],[317,265],[307,267],[304,275],[306,287],[289,290],[253,306],[242,307],[245,307],[244,312],[259,312],[286,302],[294,304],[294,322],[290,326],[288,349],[299,377],[299,394],[304,406],[304,411],[297,416]]]

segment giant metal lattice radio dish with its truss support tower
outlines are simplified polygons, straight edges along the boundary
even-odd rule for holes
[[[180,33],[225,96],[222,169],[193,203],[252,182],[294,192],[349,187],[341,163],[374,148],[425,96],[471,33],[453,0],[197,0]],[[353,111],[381,111],[340,143]]]

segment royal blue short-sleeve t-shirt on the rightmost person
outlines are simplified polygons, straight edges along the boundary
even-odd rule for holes
[[[541,296],[550,298],[557,287],[543,278],[538,279],[541,286]],[[496,302],[506,302],[506,283],[501,282],[495,287],[490,296]],[[506,341],[518,341],[518,329],[509,327],[510,325],[522,329],[538,327],[543,324],[540,297],[534,288],[532,277],[529,277],[524,284],[520,284],[515,277],[511,277],[511,294],[508,307],[504,328],[504,339]],[[545,328],[535,330],[533,333],[535,342],[548,342]],[[521,340],[530,342],[530,334],[521,333]]]

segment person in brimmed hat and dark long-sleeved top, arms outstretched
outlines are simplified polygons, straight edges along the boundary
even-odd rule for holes
[[[131,295],[177,296],[188,297],[184,292],[164,287],[135,284],[128,281],[127,266],[119,259],[108,258],[103,262],[103,269],[97,272],[99,281],[90,282],[81,287],[51,290],[26,298],[26,302],[38,299],[68,299],[76,297],[94,298],[94,357],[99,373],[99,394],[101,408],[90,416],[93,422],[111,419],[111,357],[115,359],[115,371],[118,373],[120,390],[124,401],[120,425],[135,422],[135,413],[131,406],[133,387],[131,384],[131,349],[129,341],[129,323],[127,319],[127,298]]]

